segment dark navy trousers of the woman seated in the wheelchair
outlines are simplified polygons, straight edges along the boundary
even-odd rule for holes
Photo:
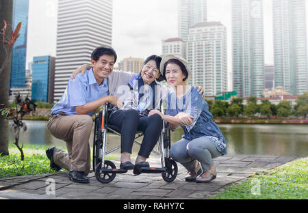
[[[121,129],[121,153],[131,153],[136,132],[143,132],[144,137],[138,155],[144,158],[149,158],[163,128],[160,115],[146,117],[139,115],[135,109],[114,112],[109,118],[109,123]]]

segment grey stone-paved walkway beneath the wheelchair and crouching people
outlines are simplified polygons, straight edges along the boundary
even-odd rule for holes
[[[209,184],[185,182],[185,169],[178,164],[177,179],[167,183],[159,173],[117,174],[109,184],[97,181],[90,173],[90,184],[68,180],[68,172],[47,175],[8,177],[0,180],[0,199],[205,199],[234,182],[242,182],[254,173],[273,169],[296,157],[227,155],[214,159],[217,178]],[[114,160],[119,167],[119,160]],[[160,158],[150,158],[152,167],[160,167]],[[51,182],[55,184],[51,184]],[[49,195],[52,192],[54,195]]]

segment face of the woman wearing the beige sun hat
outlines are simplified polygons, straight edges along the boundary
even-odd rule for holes
[[[183,74],[181,68],[176,63],[168,63],[166,66],[166,80],[172,87],[184,85],[185,74]]]

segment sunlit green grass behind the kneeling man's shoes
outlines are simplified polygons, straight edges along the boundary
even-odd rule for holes
[[[10,155],[0,157],[0,179],[22,175],[60,173],[61,171],[57,172],[49,167],[50,161],[45,152],[48,147],[49,145],[24,145],[23,153],[25,154],[25,160],[21,161],[21,152],[19,152],[15,145],[10,144]],[[59,148],[66,150],[66,147]],[[113,160],[115,158],[114,156],[109,156],[106,160]]]

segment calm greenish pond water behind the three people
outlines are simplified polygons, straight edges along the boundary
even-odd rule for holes
[[[21,134],[21,142],[65,146],[64,141],[50,134],[46,121],[25,121],[25,123],[27,131]],[[12,121],[8,121],[8,124],[11,125]],[[220,124],[218,126],[227,141],[228,154],[308,155],[307,125]],[[181,128],[172,132],[172,143],[181,139],[182,134]],[[10,132],[10,141],[11,143],[14,141],[14,132]],[[93,134],[90,137],[91,146],[92,141]],[[108,148],[120,145],[120,138],[114,134],[108,134],[107,141]],[[138,141],[141,142],[142,139]],[[134,145],[133,154],[138,154],[138,150],[139,147]]]

